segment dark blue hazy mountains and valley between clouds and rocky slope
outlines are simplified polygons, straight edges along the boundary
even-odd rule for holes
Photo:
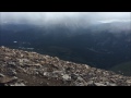
[[[131,61],[131,27],[129,22],[97,23],[87,27],[2,24],[0,46],[112,70],[118,64]],[[119,71],[117,68],[116,72]],[[124,73],[121,71],[121,74]]]

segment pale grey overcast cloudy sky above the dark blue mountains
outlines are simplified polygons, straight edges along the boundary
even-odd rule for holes
[[[104,20],[131,20],[131,12],[0,12],[2,23],[93,23]]]

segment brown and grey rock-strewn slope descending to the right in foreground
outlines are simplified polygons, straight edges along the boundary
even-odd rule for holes
[[[131,76],[2,46],[0,86],[131,86]]]

